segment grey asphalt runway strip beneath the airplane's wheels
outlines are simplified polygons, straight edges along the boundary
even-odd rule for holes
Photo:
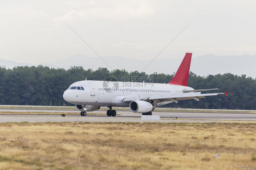
[[[0,115],[0,122],[189,122],[189,123],[256,123],[255,113],[199,113],[199,112],[152,112],[160,120],[141,120],[140,113],[117,111],[116,117],[108,117],[106,111],[94,111],[98,115],[80,116],[78,111],[0,109],[1,112],[17,112],[16,115]],[[77,115],[20,115],[19,112],[72,112]],[[148,116],[150,117],[150,116]],[[177,119],[176,119],[177,117]]]

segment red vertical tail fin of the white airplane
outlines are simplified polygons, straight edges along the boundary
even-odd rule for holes
[[[191,63],[192,53],[186,53],[182,63],[179,66],[174,78],[168,84],[187,86],[189,79],[189,68]]]

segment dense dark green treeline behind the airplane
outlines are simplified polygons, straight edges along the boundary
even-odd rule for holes
[[[154,77],[154,83],[169,83],[174,74],[146,74],[138,71],[128,73],[126,70],[109,71],[107,68],[84,70],[82,67],[49,68],[45,66],[15,67],[6,69],[0,67],[0,104],[8,105],[70,105],[62,98],[67,87],[79,80],[104,80],[113,76],[122,81],[126,77]],[[210,108],[210,109],[252,109],[256,110],[256,79],[237,76],[231,73],[201,77],[195,73],[189,74],[189,87],[220,88],[219,91],[229,90],[229,96],[213,96],[195,100],[170,103],[168,107]]]

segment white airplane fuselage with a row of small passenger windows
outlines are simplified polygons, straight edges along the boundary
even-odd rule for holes
[[[182,95],[191,87],[162,83],[79,81],[73,83],[63,94],[63,98],[77,105],[128,107],[124,98],[166,97]],[[157,106],[168,104],[161,102]]]

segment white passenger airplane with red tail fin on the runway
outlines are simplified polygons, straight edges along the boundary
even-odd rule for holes
[[[65,101],[76,105],[81,116],[87,112],[107,106],[107,116],[116,116],[112,107],[129,107],[132,112],[142,115],[152,115],[155,107],[179,100],[194,99],[199,101],[206,96],[216,96],[223,93],[204,93],[203,91],[218,90],[197,89],[188,87],[189,68],[192,53],[186,53],[174,78],[167,84],[152,82],[118,82],[113,80],[92,81],[83,80],[72,83],[63,93]]]

